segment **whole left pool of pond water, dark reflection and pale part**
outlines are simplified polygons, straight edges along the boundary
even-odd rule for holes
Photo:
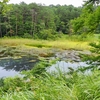
[[[32,69],[38,61],[38,59],[29,56],[0,59],[0,78],[20,75],[21,71]]]

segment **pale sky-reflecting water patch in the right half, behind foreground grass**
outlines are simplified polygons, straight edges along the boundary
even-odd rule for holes
[[[56,64],[47,68],[47,72],[54,73],[58,72],[59,70],[63,73],[69,72],[71,70],[77,70],[80,67],[87,67],[88,65],[85,62],[65,62],[65,61],[58,61]]]

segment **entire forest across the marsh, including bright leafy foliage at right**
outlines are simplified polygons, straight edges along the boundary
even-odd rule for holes
[[[19,36],[47,39],[53,38],[59,33],[99,33],[99,11],[100,7],[96,4],[84,5],[83,7],[74,7],[73,5],[46,6],[24,2],[2,5],[0,37]]]

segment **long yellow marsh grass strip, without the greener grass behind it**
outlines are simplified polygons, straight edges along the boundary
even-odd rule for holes
[[[45,48],[59,48],[59,49],[76,49],[76,50],[88,50],[90,46],[86,41],[72,41],[72,40],[33,40],[23,38],[2,38],[0,39],[1,46],[26,46],[32,47],[45,47]]]

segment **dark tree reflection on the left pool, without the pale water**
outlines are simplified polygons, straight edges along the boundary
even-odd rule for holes
[[[2,59],[0,60],[0,66],[6,70],[15,70],[15,71],[22,71],[22,70],[30,70],[34,67],[34,65],[39,60],[34,57],[22,57],[19,59]]]

